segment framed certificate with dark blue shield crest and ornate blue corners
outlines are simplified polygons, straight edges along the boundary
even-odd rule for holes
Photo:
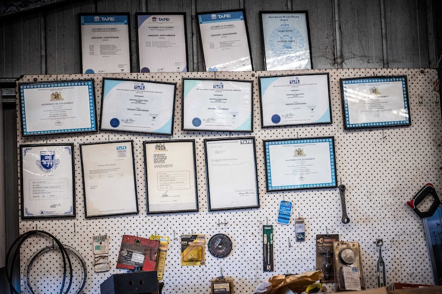
[[[74,145],[20,146],[22,218],[75,216]]]

